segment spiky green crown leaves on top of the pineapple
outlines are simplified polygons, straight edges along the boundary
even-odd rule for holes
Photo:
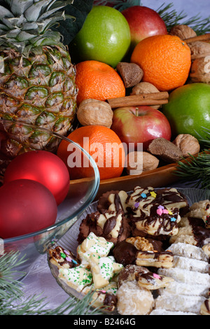
[[[92,1],[89,2],[92,6]],[[31,48],[40,45],[62,46],[64,36],[58,29],[59,22],[68,20],[73,24],[76,20],[71,15],[72,4],[73,0],[0,0],[0,46],[15,48],[26,56]],[[86,15],[87,12],[82,22],[77,23],[76,32],[82,27]],[[66,44],[69,42],[65,41]]]

